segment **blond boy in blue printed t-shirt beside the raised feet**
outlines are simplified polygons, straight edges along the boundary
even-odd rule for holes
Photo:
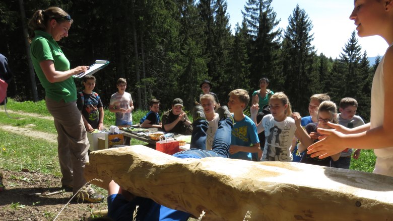
[[[235,122],[229,148],[229,158],[232,159],[252,160],[251,153],[257,153],[257,159],[262,157],[255,123],[243,114],[249,101],[246,90],[236,89],[229,93],[228,108]]]

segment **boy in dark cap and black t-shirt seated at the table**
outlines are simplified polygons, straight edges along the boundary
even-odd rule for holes
[[[172,102],[172,109],[161,116],[162,127],[166,132],[191,135],[192,126],[187,115],[182,111],[183,100],[176,98]]]

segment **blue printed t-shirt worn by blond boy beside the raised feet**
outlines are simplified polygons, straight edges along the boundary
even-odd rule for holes
[[[243,120],[235,122],[232,129],[231,145],[249,147],[252,144],[259,143],[258,134],[254,122],[247,116]],[[229,158],[251,160],[251,153],[237,152],[229,154]]]

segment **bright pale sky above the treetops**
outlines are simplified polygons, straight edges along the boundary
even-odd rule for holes
[[[232,30],[236,23],[241,24],[244,12],[244,5],[247,0],[227,0],[227,13],[230,16]],[[338,58],[343,51],[343,47],[351,38],[352,32],[356,29],[354,21],[349,19],[353,10],[352,0],[273,0],[272,7],[277,13],[276,19],[281,19],[279,26],[286,29],[288,18],[299,4],[304,9],[312,22],[314,33],[312,44],[315,46],[317,54],[323,53],[326,57]],[[234,32],[234,31],[232,31]],[[368,57],[377,55],[383,56],[387,43],[379,36],[358,38],[362,47],[362,53],[367,51]]]

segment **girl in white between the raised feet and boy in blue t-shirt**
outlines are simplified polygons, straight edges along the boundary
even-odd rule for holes
[[[204,94],[200,98],[201,106],[204,108],[206,120],[209,122],[209,128],[206,131],[206,150],[213,147],[214,135],[218,128],[219,116],[214,112],[217,105],[216,99],[211,94]]]

